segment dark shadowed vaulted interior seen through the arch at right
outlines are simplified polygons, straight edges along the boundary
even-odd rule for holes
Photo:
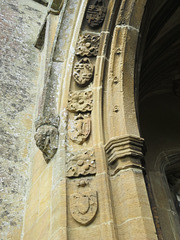
[[[139,79],[139,96],[136,95],[139,126],[147,147],[146,171],[163,239],[179,239],[177,213],[173,217],[173,207],[168,203],[172,198],[162,170],[167,156],[161,158],[161,167],[158,164],[163,155],[161,152],[170,154],[173,149],[180,148],[179,11],[176,1],[161,1],[160,5],[157,1],[147,3],[137,51],[137,62],[140,63],[136,78]]]

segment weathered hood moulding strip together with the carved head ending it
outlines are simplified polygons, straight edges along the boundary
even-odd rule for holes
[[[59,117],[56,116],[54,109],[57,109],[53,101],[55,94],[53,89],[53,79],[51,70],[53,55],[60,28],[60,13],[63,0],[51,0],[47,6],[47,15],[44,25],[41,28],[35,46],[42,49],[40,67],[40,87],[39,87],[39,107],[38,119],[35,121],[35,141],[37,147],[42,151],[45,161],[48,163],[56,154],[59,139]]]

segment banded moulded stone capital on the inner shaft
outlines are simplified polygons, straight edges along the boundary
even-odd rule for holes
[[[127,168],[143,169],[144,139],[136,136],[113,137],[105,145],[105,151],[110,166],[110,174]]]

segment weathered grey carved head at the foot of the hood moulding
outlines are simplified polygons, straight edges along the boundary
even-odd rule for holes
[[[57,151],[58,138],[58,129],[52,125],[40,126],[34,135],[36,145],[42,151],[44,159],[47,163]]]

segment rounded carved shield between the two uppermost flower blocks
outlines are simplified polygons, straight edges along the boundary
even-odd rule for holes
[[[81,86],[89,84],[93,78],[93,65],[89,58],[83,58],[74,66],[74,80]]]

